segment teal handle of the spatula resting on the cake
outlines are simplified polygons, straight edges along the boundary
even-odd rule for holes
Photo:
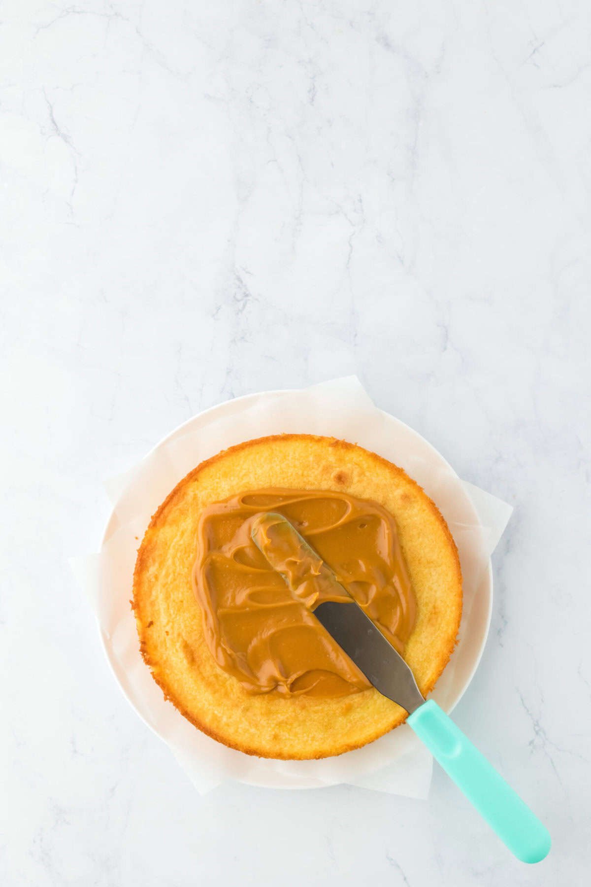
[[[548,828],[437,703],[430,699],[407,723],[518,860],[540,862],[548,855]]]

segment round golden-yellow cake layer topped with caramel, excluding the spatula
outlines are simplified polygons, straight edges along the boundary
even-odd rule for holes
[[[424,695],[455,647],[462,614],[462,576],[447,524],[418,484],[391,462],[354,443],[310,435],[261,437],[203,462],[153,515],[138,550],[133,606],[140,648],[153,678],[185,718],[219,742],[261,757],[338,755],[372,742],[407,717],[369,687],[344,654],[339,659],[339,648],[323,637],[322,627],[316,633],[319,624],[304,604],[286,600],[278,574],[261,569],[245,547],[237,501],[256,514],[274,502],[279,511],[285,503],[293,508],[289,504],[296,499],[304,505],[322,499],[323,508],[355,507],[354,514],[362,515],[347,525],[341,563],[331,562],[338,560],[334,534],[323,536],[323,528],[311,526],[307,541],[404,655]],[[289,518],[289,508],[283,510]],[[229,536],[215,538],[215,524],[208,522],[220,514],[223,533],[230,528],[231,536],[237,528],[233,545]],[[385,576],[382,561],[376,574],[391,582],[390,597],[383,589],[376,594],[373,574],[371,582],[353,581],[362,575],[350,568],[360,560],[357,539],[367,539],[370,526],[397,553],[396,575]],[[300,528],[304,536],[306,529]],[[226,582],[230,564],[237,573]],[[243,574],[252,586],[256,577],[264,582],[241,590],[236,583]],[[239,608],[229,608],[229,590]],[[280,606],[275,595],[283,595]],[[253,603],[259,608],[254,614]],[[248,634],[253,616],[252,632],[261,634],[266,612],[276,628],[291,614],[292,633],[283,649],[276,645],[279,635],[255,644]],[[299,636],[315,646],[302,643],[300,650]],[[308,670],[301,667],[304,650],[313,652]]]

